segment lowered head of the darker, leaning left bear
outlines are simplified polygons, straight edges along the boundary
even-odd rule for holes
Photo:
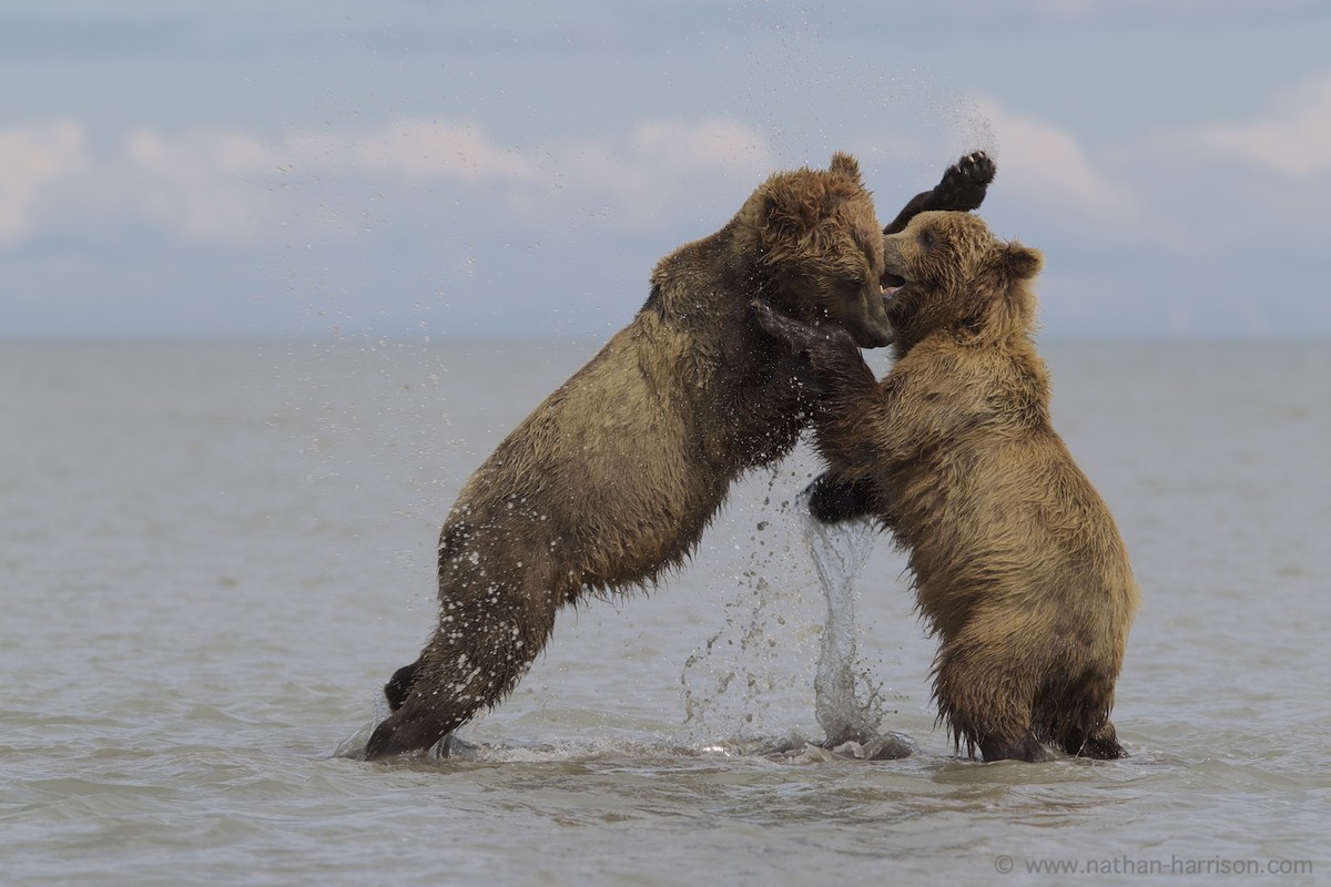
[[[837,153],[827,170],[772,176],[737,221],[744,249],[757,255],[761,295],[780,311],[813,326],[837,324],[861,347],[892,342],[882,229],[853,157]]]

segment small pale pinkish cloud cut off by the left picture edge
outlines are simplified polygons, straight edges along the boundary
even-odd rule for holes
[[[0,243],[27,235],[51,188],[91,166],[84,130],[75,122],[0,130]]]

